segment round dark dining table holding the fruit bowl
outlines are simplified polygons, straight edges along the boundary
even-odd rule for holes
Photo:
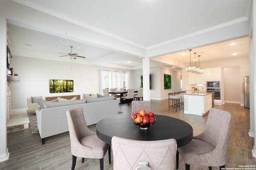
[[[154,115],[156,122],[147,130],[134,125],[130,114],[107,117],[96,125],[96,134],[104,142],[111,144],[113,136],[132,140],[164,140],[174,138],[177,147],[188,144],[193,138],[193,128],[186,122],[164,115]]]

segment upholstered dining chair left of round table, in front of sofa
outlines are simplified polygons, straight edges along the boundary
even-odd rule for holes
[[[111,148],[95,132],[92,132],[86,125],[82,107],[66,111],[68,129],[70,134],[72,170],[76,166],[76,157],[100,159],[100,170],[103,170],[103,157],[108,150],[109,164],[111,164]]]

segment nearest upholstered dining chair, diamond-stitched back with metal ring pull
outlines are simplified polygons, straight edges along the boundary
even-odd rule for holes
[[[151,170],[175,170],[175,139],[143,141],[113,136],[111,145],[114,170],[142,170],[147,166]]]

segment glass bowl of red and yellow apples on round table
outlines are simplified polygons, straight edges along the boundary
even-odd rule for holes
[[[140,129],[142,130],[148,129],[156,122],[156,118],[154,118],[154,113],[146,113],[143,109],[140,109],[136,113],[132,113],[130,117],[134,125],[140,127]]]

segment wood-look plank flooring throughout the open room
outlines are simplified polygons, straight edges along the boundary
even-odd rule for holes
[[[186,121],[193,127],[194,135],[199,134],[204,129],[208,114],[204,116],[184,114],[183,110],[176,112],[175,109],[168,111],[168,99],[151,100],[152,112],[159,115],[175,117]],[[256,158],[252,156],[254,138],[248,136],[250,130],[249,109],[239,104],[226,103],[225,105],[215,105],[214,108],[223,109],[232,113],[230,136],[228,141],[228,168],[239,168],[239,165],[256,165]],[[131,113],[131,105],[119,105],[122,113]],[[96,131],[96,125],[89,126]],[[154,127],[153,127],[154,128]],[[175,130],[175,129],[163,129]],[[0,162],[1,170],[69,170],[72,164],[70,152],[69,133],[65,132],[46,138],[46,143],[42,145],[39,134],[31,135],[30,128],[9,132],[7,134],[8,150],[10,157],[4,162]],[[112,157],[113,158],[113,157]],[[184,162],[180,156],[179,170],[185,170]],[[77,158],[76,170],[99,170],[98,159],[85,159],[81,163],[81,158]],[[113,169],[112,164],[108,164],[108,153],[104,157],[104,170]],[[190,166],[191,170],[208,170],[208,167]],[[218,170],[213,167],[213,170]]]

